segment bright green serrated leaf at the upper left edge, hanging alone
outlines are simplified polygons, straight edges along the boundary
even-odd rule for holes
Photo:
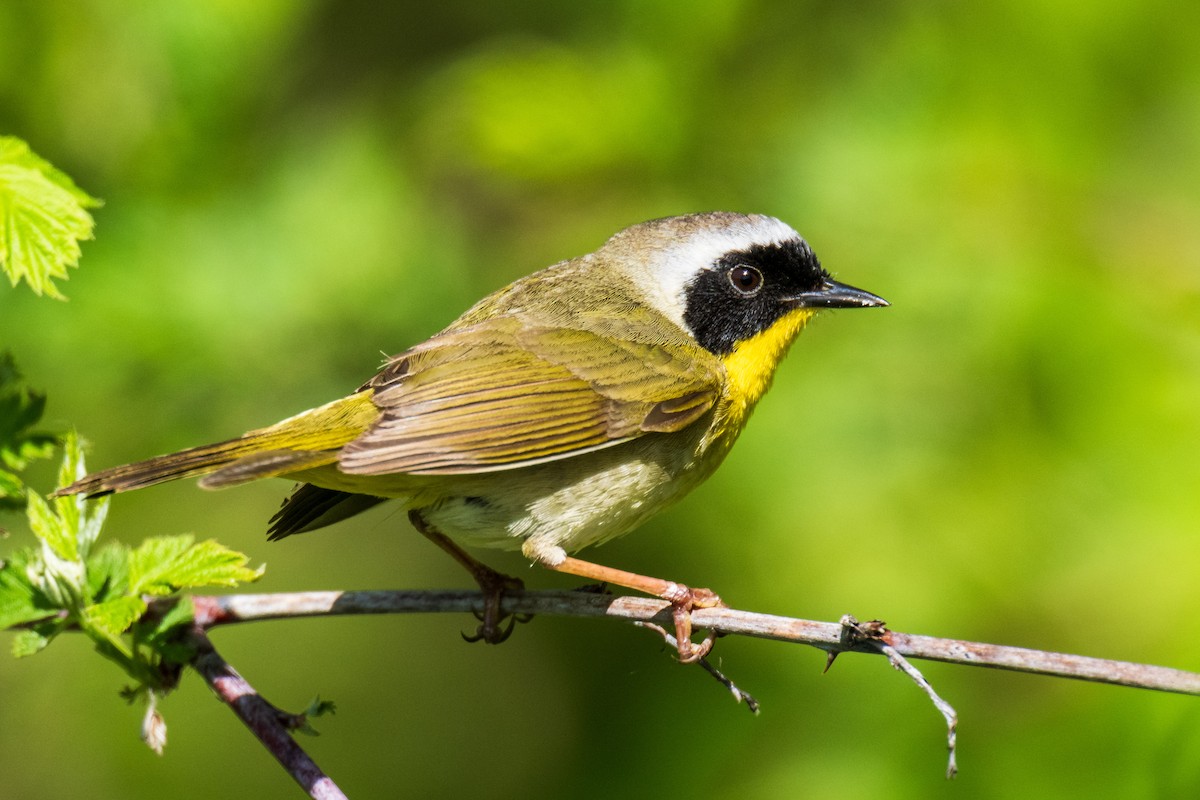
[[[96,224],[86,209],[98,205],[28,144],[0,137],[0,269],[13,285],[62,299],[54,281],[78,266]]]

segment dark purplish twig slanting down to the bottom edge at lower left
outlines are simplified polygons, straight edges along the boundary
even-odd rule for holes
[[[263,746],[283,765],[288,775],[314,800],[346,800],[337,784],[325,775],[300,745],[292,739],[292,730],[305,724],[305,716],[287,714],[268,703],[246,679],[216,651],[200,626],[196,626],[188,644],[196,649],[192,667],[233,709]]]

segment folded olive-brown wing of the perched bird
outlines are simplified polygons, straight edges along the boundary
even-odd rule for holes
[[[588,327],[504,317],[396,356],[364,386],[380,416],[342,449],[340,469],[510,469],[678,431],[716,402],[720,362],[682,336],[662,341],[636,320]]]

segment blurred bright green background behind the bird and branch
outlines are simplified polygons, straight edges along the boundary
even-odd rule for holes
[[[611,233],[784,218],[893,307],[804,333],[726,465],[592,551],[736,607],[1200,669],[1200,6],[1192,2],[0,4],[0,131],[102,197],[70,302],[0,345],[107,467],[274,422]],[[48,488],[46,471],[43,488]],[[264,540],[282,482],[164,486],[259,588],[464,587],[380,509]],[[7,546],[23,543],[18,518]],[[571,585],[490,555],[534,588]],[[539,619],[221,630],[356,798],[1194,796],[1195,699],[726,639],[736,706],[648,634]],[[10,798],[288,798],[188,676],[162,758],[65,637],[0,658]]]

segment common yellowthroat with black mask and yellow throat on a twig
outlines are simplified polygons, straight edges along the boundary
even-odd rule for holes
[[[484,297],[348,397],[59,493],[196,475],[205,488],[299,481],[271,539],[398,499],[484,588],[475,638],[508,636],[500,595],[522,584],[456,542],[520,547],[551,570],[668,600],[679,657],[695,661],[712,638],[691,642],[690,612],[720,604],[715,594],[568,553],[629,533],[712,475],[820,309],[887,305],[830,278],[773,217],[654,219]]]

